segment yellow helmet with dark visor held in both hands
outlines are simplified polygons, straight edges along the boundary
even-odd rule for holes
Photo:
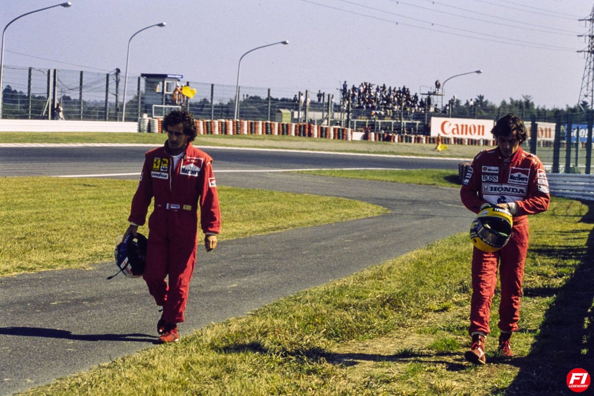
[[[498,206],[481,209],[470,225],[470,240],[476,249],[497,252],[510,240],[512,225],[507,209]]]

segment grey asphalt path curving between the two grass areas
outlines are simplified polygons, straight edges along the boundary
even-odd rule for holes
[[[473,218],[457,188],[272,172],[222,173],[217,184],[359,199],[390,213],[199,249],[182,336],[467,231]],[[0,278],[0,395],[153,346],[157,306],[141,279],[106,280],[115,270]]]

